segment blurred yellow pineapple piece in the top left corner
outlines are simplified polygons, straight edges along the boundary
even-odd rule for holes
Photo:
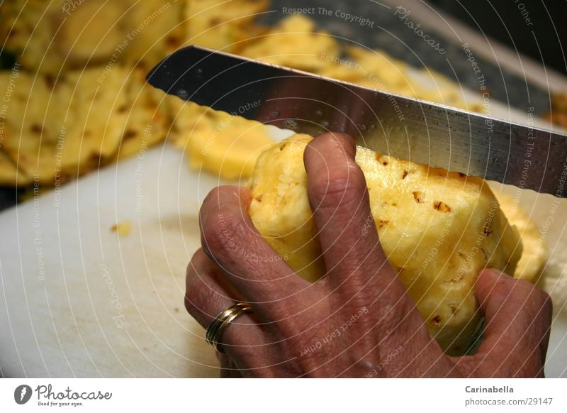
[[[0,41],[25,70],[52,77],[117,62],[149,68],[183,43],[186,1],[3,1]]]

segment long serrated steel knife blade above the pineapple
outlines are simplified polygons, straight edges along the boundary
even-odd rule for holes
[[[198,46],[166,57],[147,81],[296,133],[348,133],[386,155],[567,197],[567,136],[560,133]]]

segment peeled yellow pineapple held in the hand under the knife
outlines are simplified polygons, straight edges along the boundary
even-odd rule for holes
[[[266,241],[307,280],[325,274],[303,165],[312,138],[296,135],[260,155],[249,214]],[[389,263],[430,333],[449,354],[468,348],[481,315],[474,297],[486,267],[513,274],[522,241],[484,180],[357,149]],[[275,213],[274,213],[275,212]]]

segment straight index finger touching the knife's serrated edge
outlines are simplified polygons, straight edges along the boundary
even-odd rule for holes
[[[355,154],[352,138],[337,133],[319,136],[305,149],[308,195],[327,273],[339,284],[360,287],[362,282],[383,292],[381,299],[397,302],[405,289],[380,246]],[[356,273],[364,280],[352,279]]]

